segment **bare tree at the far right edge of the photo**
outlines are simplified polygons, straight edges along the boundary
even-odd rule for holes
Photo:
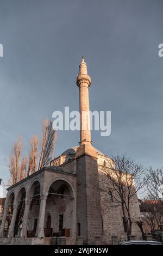
[[[159,200],[163,204],[163,169],[148,169],[148,197],[151,200]]]

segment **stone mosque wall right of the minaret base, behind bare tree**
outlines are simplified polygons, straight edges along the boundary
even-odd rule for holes
[[[100,159],[101,160],[98,159],[98,162],[102,164],[105,157],[100,156]],[[106,157],[105,161],[109,161],[108,157]],[[105,167],[101,164],[98,164],[98,173],[99,186],[101,188],[101,214],[103,218],[103,228],[104,230],[107,230],[110,235],[119,234],[118,236],[120,237],[120,233],[124,232],[122,207],[117,206],[116,202],[109,202],[109,191],[111,191],[115,197],[118,197],[118,194],[114,191],[108,177],[103,174]],[[133,221],[132,234],[134,235],[137,232],[140,233],[140,229],[136,224],[136,221],[139,220],[140,217],[139,202],[136,195],[130,200],[130,214]]]

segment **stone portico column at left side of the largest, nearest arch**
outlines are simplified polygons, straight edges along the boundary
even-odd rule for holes
[[[48,193],[42,194],[40,197],[40,211],[39,211],[39,222],[37,225],[36,236],[43,238],[44,234],[44,221],[45,221],[45,209],[46,209],[46,199]]]

